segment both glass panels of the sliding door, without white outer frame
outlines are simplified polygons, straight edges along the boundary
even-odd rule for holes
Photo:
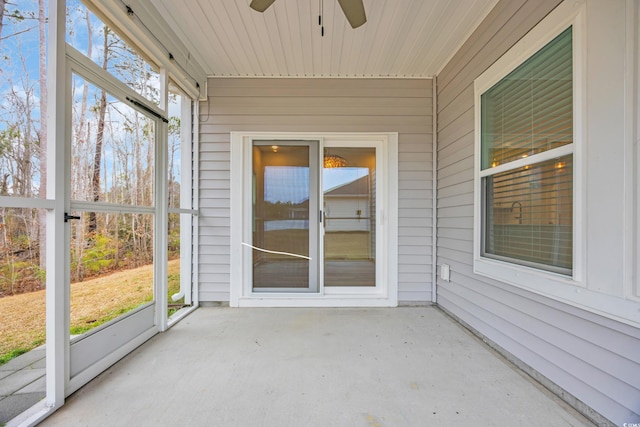
[[[253,292],[376,287],[376,155],[371,144],[253,141]]]

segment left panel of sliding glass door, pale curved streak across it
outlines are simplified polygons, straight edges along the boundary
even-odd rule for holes
[[[254,292],[317,292],[315,152],[309,142],[254,141]]]

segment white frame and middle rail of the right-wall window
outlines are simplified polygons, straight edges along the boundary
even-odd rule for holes
[[[583,173],[584,117],[586,103],[584,2],[564,2],[540,24],[516,43],[474,82],[475,97],[475,168],[474,168],[474,273],[535,292],[571,300],[568,292],[585,288],[584,227],[586,210]],[[481,96],[515,68],[529,59],[567,28],[573,28],[573,143],[536,156],[519,159],[491,170],[481,170]],[[482,256],[482,178],[487,175],[540,163],[563,155],[573,154],[573,267],[571,275],[553,273],[508,261]]]

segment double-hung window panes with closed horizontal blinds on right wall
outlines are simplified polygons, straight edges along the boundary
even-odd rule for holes
[[[480,104],[482,256],[571,275],[572,28],[482,93]]]

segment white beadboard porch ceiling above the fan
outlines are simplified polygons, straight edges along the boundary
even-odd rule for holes
[[[324,3],[324,37],[318,15]],[[497,0],[364,0],[349,26],[337,0],[151,0],[209,76],[430,77]]]

